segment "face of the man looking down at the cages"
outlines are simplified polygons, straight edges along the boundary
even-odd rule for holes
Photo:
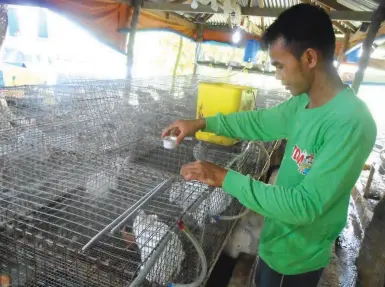
[[[309,66],[307,55],[298,60],[278,39],[270,48],[271,63],[276,68],[275,77],[293,96],[308,92],[314,78],[314,69]]]

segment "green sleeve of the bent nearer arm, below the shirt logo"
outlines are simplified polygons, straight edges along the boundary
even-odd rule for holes
[[[325,135],[311,170],[298,186],[264,184],[229,171],[223,190],[266,217],[295,225],[311,223],[334,202],[350,194],[375,139],[374,123],[336,124]]]

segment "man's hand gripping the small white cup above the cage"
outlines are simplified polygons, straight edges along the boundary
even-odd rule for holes
[[[180,144],[185,137],[193,136],[197,131],[206,128],[206,120],[180,120],[169,125],[162,133],[162,137],[169,136],[174,131],[176,144]]]

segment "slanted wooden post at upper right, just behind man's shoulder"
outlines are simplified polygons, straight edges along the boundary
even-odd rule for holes
[[[354,76],[354,80],[352,84],[352,88],[356,93],[358,93],[360,84],[364,79],[364,73],[369,63],[370,52],[372,50],[373,42],[376,38],[378,29],[381,26],[381,22],[384,20],[385,20],[385,1],[381,1],[377,10],[374,11],[373,13],[368,34],[366,35],[364,43],[362,44],[362,55],[358,62],[358,71]]]

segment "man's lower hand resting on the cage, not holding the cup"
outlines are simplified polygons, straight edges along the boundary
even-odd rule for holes
[[[185,180],[197,180],[214,187],[222,187],[228,170],[210,162],[196,161],[185,164],[180,174]]]

